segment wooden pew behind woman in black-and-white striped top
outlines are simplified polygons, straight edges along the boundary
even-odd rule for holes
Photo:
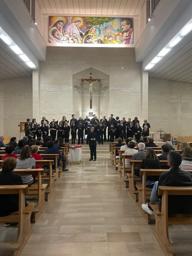
[[[43,169],[14,169],[13,172],[20,175],[35,175],[38,177],[37,184],[32,184],[27,193],[29,196],[37,196],[37,206],[34,207],[31,214],[31,222],[35,223],[45,208],[45,190],[48,184],[41,183],[41,175],[44,174],[44,171]]]

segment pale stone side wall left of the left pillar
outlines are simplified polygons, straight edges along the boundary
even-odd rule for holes
[[[32,119],[32,77],[0,80],[0,133],[20,138],[18,123]]]

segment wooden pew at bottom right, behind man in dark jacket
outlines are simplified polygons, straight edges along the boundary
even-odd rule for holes
[[[192,251],[191,243],[171,243],[169,239],[168,225],[188,225],[192,224],[191,215],[168,216],[168,196],[169,195],[192,195],[192,187],[168,187],[160,186],[159,195],[162,195],[161,212],[158,205],[152,205],[155,216],[155,228],[153,231],[158,243],[166,256],[175,256],[176,253],[188,255]],[[191,239],[191,238],[189,238]]]

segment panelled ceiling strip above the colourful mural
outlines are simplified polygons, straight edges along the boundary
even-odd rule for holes
[[[38,0],[42,13],[139,15],[145,0]]]

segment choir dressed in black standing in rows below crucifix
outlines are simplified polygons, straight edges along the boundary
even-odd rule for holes
[[[77,120],[74,115],[71,115],[72,118],[70,121],[66,120],[66,117],[63,116],[62,120],[58,123],[58,120],[49,123],[45,116],[43,116],[41,122],[37,123],[36,119],[33,118],[32,123],[30,119],[27,118],[25,123],[25,136],[30,139],[38,137],[43,137],[43,141],[50,134],[52,140],[54,141],[57,138],[63,138],[65,143],[69,142],[69,135],[71,133],[71,144],[75,144],[75,140],[78,135],[78,144],[80,141],[82,144],[84,138],[86,139],[86,144],[88,144],[87,135],[90,132],[90,128],[94,127],[94,131],[97,133],[98,143],[102,144],[105,141],[113,142],[114,138],[121,138],[122,141],[126,138],[133,138],[135,135],[135,140],[138,142],[142,137],[146,142],[147,136],[149,136],[150,124],[147,120],[144,120],[142,126],[140,126],[139,120],[137,117],[131,121],[131,118],[128,118],[128,121],[125,120],[125,117],[122,120],[117,116],[116,119],[113,118],[113,114],[109,117],[109,120],[106,119],[104,115],[103,118],[99,121],[96,115],[93,115],[93,118],[90,120],[88,115],[83,120],[81,116]],[[85,130],[85,132],[84,132]],[[107,137],[106,137],[107,130]]]

